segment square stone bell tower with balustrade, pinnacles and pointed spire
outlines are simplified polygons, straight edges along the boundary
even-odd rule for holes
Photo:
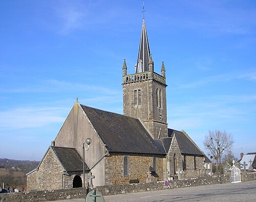
[[[123,61],[123,114],[140,119],[154,139],[168,137],[165,67],[154,72],[146,25],[143,18],[135,73],[127,75]]]

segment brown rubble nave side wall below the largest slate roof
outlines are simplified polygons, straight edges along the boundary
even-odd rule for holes
[[[153,167],[153,157],[128,156],[129,175],[123,176],[124,156],[110,156],[105,158],[105,185],[129,184],[130,180],[146,182],[147,168]],[[153,182],[163,180],[163,159],[157,158],[157,171],[159,178],[151,176]]]

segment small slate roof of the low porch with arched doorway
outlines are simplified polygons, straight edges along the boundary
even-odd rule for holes
[[[65,171],[83,170],[83,160],[75,148],[50,146]],[[87,164],[84,169],[89,171]]]

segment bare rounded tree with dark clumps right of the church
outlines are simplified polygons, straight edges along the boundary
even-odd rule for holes
[[[219,158],[223,152],[229,152],[233,146],[233,136],[226,131],[208,131],[205,135],[203,144],[208,150],[210,158],[219,164]]]

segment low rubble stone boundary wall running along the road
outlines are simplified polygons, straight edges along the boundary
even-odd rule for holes
[[[222,183],[229,183],[230,176],[222,175]],[[256,180],[256,173],[246,173],[245,181]],[[205,178],[190,178],[184,180],[169,181],[169,189],[191,187],[209,184],[220,183],[219,176],[209,176]],[[114,195],[131,192],[144,192],[144,191],[156,191],[164,189],[164,182],[153,183],[138,183],[129,185],[110,185],[96,187],[96,190],[102,192],[103,195]],[[0,202],[23,202],[23,201],[51,201],[51,200],[63,200],[71,198],[82,198],[83,189],[60,189],[52,191],[31,191],[31,192],[19,192],[19,193],[2,193],[0,194]]]

